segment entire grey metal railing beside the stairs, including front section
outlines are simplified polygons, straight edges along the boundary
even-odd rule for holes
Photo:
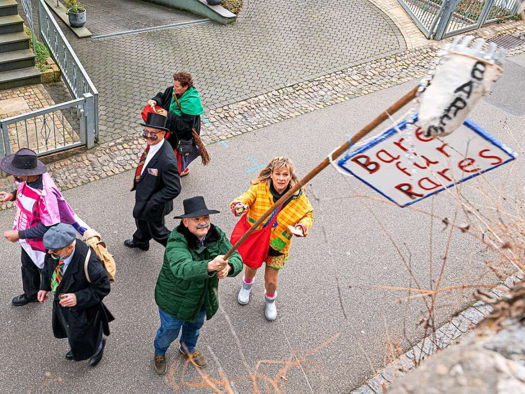
[[[31,0],[21,1],[34,37]],[[98,140],[98,91],[47,5],[37,2],[40,39],[60,67],[74,100],[0,120],[0,158],[20,148],[39,155],[79,146],[89,149]]]

